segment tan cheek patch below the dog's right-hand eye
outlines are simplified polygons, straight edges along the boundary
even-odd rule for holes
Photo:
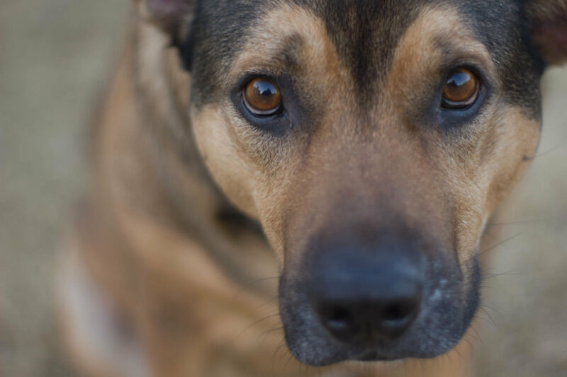
[[[485,225],[524,175],[539,140],[540,120],[522,108],[500,105],[483,123],[464,156],[437,158],[446,195],[454,198],[454,248],[461,262],[476,255]]]

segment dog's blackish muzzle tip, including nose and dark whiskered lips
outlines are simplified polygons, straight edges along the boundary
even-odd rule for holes
[[[286,265],[280,285],[288,347],[315,366],[439,356],[459,342],[477,304],[476,260],[464,271],[454,253],[405,234],[318,239]]]

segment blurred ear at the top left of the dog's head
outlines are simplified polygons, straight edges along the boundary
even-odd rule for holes
[[[182,25],[191,22],[197,0],[135,0],[148,21],[176,38]]]

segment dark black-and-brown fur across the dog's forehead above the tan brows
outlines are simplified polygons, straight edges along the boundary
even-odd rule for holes
[[[254,37],[262,37],[262,30],[269,34],[286,26],[301,27],[305,21],[290,15],[279,20],[267,18],[269,22],[266,22],[266,15],[277,13],[278,9],[283,9],[283,14],[290,9],[301,9],[323,25],[355,86],[366,88],[361,100],[369,100],[377,88],[369,83],[378,83],[388,74],[396,48],[408,28],[424,12],[442,8],[451,11],[449,16],[458,14],[459,22],[470,30],[471,36],[485,45],[499,69],[507,95],[529,108],[537,103],[537,98],[527,97],[524,83],[537,85],[539,76],[534,62],[537,59],[529,50],[529,38],[525,25],[522,26],[520,3],[518,0],[203,1],[196,22],[196,57],[205,59],[196,62],[199,74],[195,84],[201,91],[214,93],[213,87],[226,79],[220,77],[221,73],[230,70],[246,45],[254,44]],[[454,21],[454,17],[452,20],[448,17],[447,21]],[[444,20],[435,22],[442,24]]]

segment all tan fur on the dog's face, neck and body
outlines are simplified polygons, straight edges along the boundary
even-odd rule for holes
[[[277,280],[263,282],[263,289],[246,283],[276,277],[270,247],[280,267],[293,262],[286,250],[302,250],[306,232],[327,224],[337,211],[334,200],[348,195],[357,200],[349,211],[341,209],[342,219],[350,212],[366,214],[358,199],[386,205],[386,197],[425,233],[454,226],[457,239],[447,231],[444,241],[455,243],[461,262],[468,261],[488,216],[520,177],[524,157],[534,152],[537,122],[521,109],[491,103],[480,130],[451,146],[433,131],[418,137],[406,122],[408,106],[423,91],[420,78],[432,74],[441,59],[434,43],[439,37],[454,44],[456,55],[465,54],[494,74],[488,53],[451,8],[425,10],[407,30],[383,83],[386,94],[364,120],[352,110],[354,98],[344,95],[352,93],[352,79],[322,21],[303,8],[283,5],[259,24],[273,27],[252,33],[226,74],[227,86],[243,71],[277,70],[283,64],[281,43],[298,37],[298,63],[309,78],[301,86],[320,93],[315,100],[325,109],[313,137],[274,141],[274,151],[274,144],[267,146],[230,103],[191,108],[191,77],[173,51],[163,52],[167,37],[137,20],[129,41],[134,47],[126,50],[98,125],[94,184],[77,226],[79,264],[133,325],[154,376],[468,376],[468,336],[454,352],[432,361],[328,370],[288,362],[291,356],[280,347],[279,317],[262,320],[278,311]],[[175,137],[159,132],[162,122]],[[225,202],[173,152],[191,142],[189,123],[215,182],[233,204],[262,222],[269,245],[249,233],[231,235],[218,223],[215,214]],[[142,127],[148,124],[153,127]],[[376,160],[375,170],[364,170],[361,161],[368,158]],[[392,192],[376,190],[377,176],[392,185]],[[458,208],[449,225],[444,222],[448,189]],[[427,199],[418,203],[412,197]],[[317,214],[307,216],[306,206]],[[427,224],[422,213],[430,214]],[[186,224],[193,223],[198,225],[187,227],[191,233]],[[203,239],[210,250],[197,242]],[[89,354],[89,344],[69,342]],[[77,358],[79,367],[108,362],[87,358]],[[92,369],[84,370],[97,375]]]

